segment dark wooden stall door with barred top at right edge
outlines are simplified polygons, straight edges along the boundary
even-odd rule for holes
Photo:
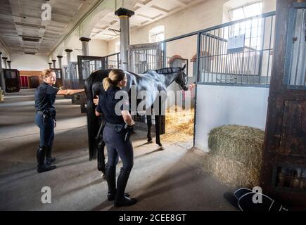
[[[277,1],[262,187],[306,207],[306,3]],[[279,13],[280,12],[280,13]]]

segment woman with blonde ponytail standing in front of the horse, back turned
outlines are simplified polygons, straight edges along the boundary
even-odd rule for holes
[[[127,76],[122,70],[111,70],[108,77],[103,80],[103,88],[98,97],[96,116],[103,114],[106,126],[103,130],[103,140],[108,150],[108,163],[106,165],[106,181],[108,182],[108,200],[115,199],[115,206],[129,206],[136,203],[136,199],[129,198],[125,193],[129,173],[133,167],[133,146],[127,138],[130,126],[134,125],[127,106],[128,99],[123,101],[123,108],[118,108],[121,100],[117,99],[117,91],[127,86]],[[94,101],[94,103],[97,103]],[[118,112],[119,111],[119,112]],[[129,127],[127,127],[129,126]],[[122,168],[117,179],[116,188],[116,165],[118,157],[122,160]]]

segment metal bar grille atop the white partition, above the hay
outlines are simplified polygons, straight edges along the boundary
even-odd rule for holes
[[[259,68],[260,51],[262,49],[260,46],[260,39],[263,39],[264,37],[262,35],[266,34],[262,30],[262,18],[265,16],[271,18],[269,42],[272,42],[274,14],[275,13],[267,13],[262,16],[238,20],[238,22],[235,21],[233,23],[219,25],[201,32],[205,38],[202,39],[203,43],[200,44],[200,50],[203,51],[204,46],[207,50],[204,54],[200,51],[200,75],[203,75],[204,77],[202,78],[202,76],[200,76],[198,82],[203,82],[203,84],[269,86],[270,54],[267,58],[262,59],[265,60],[267,63],[265,66],[268,67],[266,79],[267,85],[262,85],[260,82],[262,79],[262,74],[259,74],[259,71],[262,71],[262,68]],[[247,26],[248,29],[246,29]],[[243,27],[245,28],[245,32],[241,34]],[[228,29],[227,37],[224,37],[224,32],[221,34],[221,28],[223,30],[226,30],[225,28]],[[243,41],[241,41],[243,46],[240,46],[239,48],[236,47],[236,49],[229,48],[229,39],[237,38],[237,35],[239,35],[238,37]],[[226,46],[227,49],[223,49],[224,46]],[[226,50],[227,53],[223,52],[224,50]],[[271,44],[269,44],[269,49],[267,49],[267,51],[272,51]],[[226,65],[224,68],[220,68],[220,58],[225,60]],[[262,62],[261,67],[263,67]],[[223,79],[224,75],[225,79]]]

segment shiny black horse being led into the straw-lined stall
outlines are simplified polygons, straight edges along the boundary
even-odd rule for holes
[[[160,70],[148,70],[144,74],[135,74],[133,72],[125,71],[127,75],[127,86],[124,91],[129,94],[129,100],[131,102],[132,86],[136,89],[136,94],[140,94],[141,91],[146,91],[146,106],[143,110],[148,110],[153,108],[156,101],[158,102],[159,112],[155,112],[155,131],[156,131],[156,143],[158,146],[162,147],[160,143],[160,117],[161,108],[165,104],[165,101],[160,101],[160,96],[157,93],[167,91],[167,86],[172,84],[172,82],[177,82],[181,89],[184,91],[188,90],[188,84],[186,80],[186,74],[183,68],[162,68]],[[95,159],[98,153],[98,170],[104,173],[104,146],[102,134],[103,134],[103,117],[100,119],[95,115],[96,106],[93,103],[93,99],[98,95],[103,88],[103,79],[108,77],[110,70],[97,70],[92,72],[91,75],[85,81],[85,93],[87,95],[87,128],[88,128],[88,138],[89,138],[89,160]],[[136,101],[136,105],[139,104],[139,100]],[[147,115],[147,125],[148,125],[148,142],[151,143],[151,126],[152,120],[151,115]],[[101,121],[99,121],[101,120]],[[100,125],[99,125],[100,124]]]

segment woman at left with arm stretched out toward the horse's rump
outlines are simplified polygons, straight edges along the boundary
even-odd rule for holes
[[[44,82],[35,91],[35,124],[40,129],[40,143],[37,149],[37,172],[46,172],[55,169],[51,165],[56,159],[51,158],[54,139],[54,127],[56,127],[56,110],[53,106],[56,95],[77,94],[80,90],[59,90],[53,87],[56,84],[56,73],[53,70],[44,70],[42,74]]]

